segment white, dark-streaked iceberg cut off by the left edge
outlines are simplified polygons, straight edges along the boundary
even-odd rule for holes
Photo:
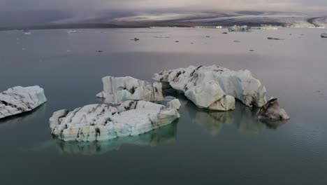
[[[31,111],[47,102],[39,86],[9,88],[0,93],[0,118]]]

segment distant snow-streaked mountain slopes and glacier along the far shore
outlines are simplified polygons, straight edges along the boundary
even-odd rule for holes
[[[38,15],[38,14],[36,14]],[[27,22],[27,21],[25,21]],[[30,25],[10,25],[2,29],[78,29],[151,26],[232,26],[275,25],[283,27],[327,27],[327,13],[306,14],[277,11],[237,11],[203,13],[106,13],[92,16],[66,15],[47,18]],[[1,28],[0,28],[1,29]]]

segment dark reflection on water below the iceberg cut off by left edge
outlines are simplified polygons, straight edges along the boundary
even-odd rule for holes
[[[35,118],[41,118],[45,115],[47,104],[41,104],[41,106],[36,109],[22,114],[16,114],[14,116],[8,116],[6,118],[0,119],[0,129],[5,127],[10,127],[18,125],[20,123],[33,121]]]

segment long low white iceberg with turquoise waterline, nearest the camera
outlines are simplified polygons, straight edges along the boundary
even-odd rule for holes
[[[64,141],[103,141],[140,135],[180,117],[177,109],[145,101],[126,101],[119,107],[90,104],[60,110],[50,118],[51,133]]]

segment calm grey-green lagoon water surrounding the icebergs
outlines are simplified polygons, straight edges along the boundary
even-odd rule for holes
[[[0,32],[0,91],[40,85],[48,97],[0,121],[0,184],[327,184],[326,30],[82,31]],[[205,111],[167,92],[182,102],[181,118],[154,132],[99,143],[50,135],[54,111],[101,102],[103,76],[151,81],[191,64],[249,69],[291,120],[261,123],[239,102],[235,111]]]

